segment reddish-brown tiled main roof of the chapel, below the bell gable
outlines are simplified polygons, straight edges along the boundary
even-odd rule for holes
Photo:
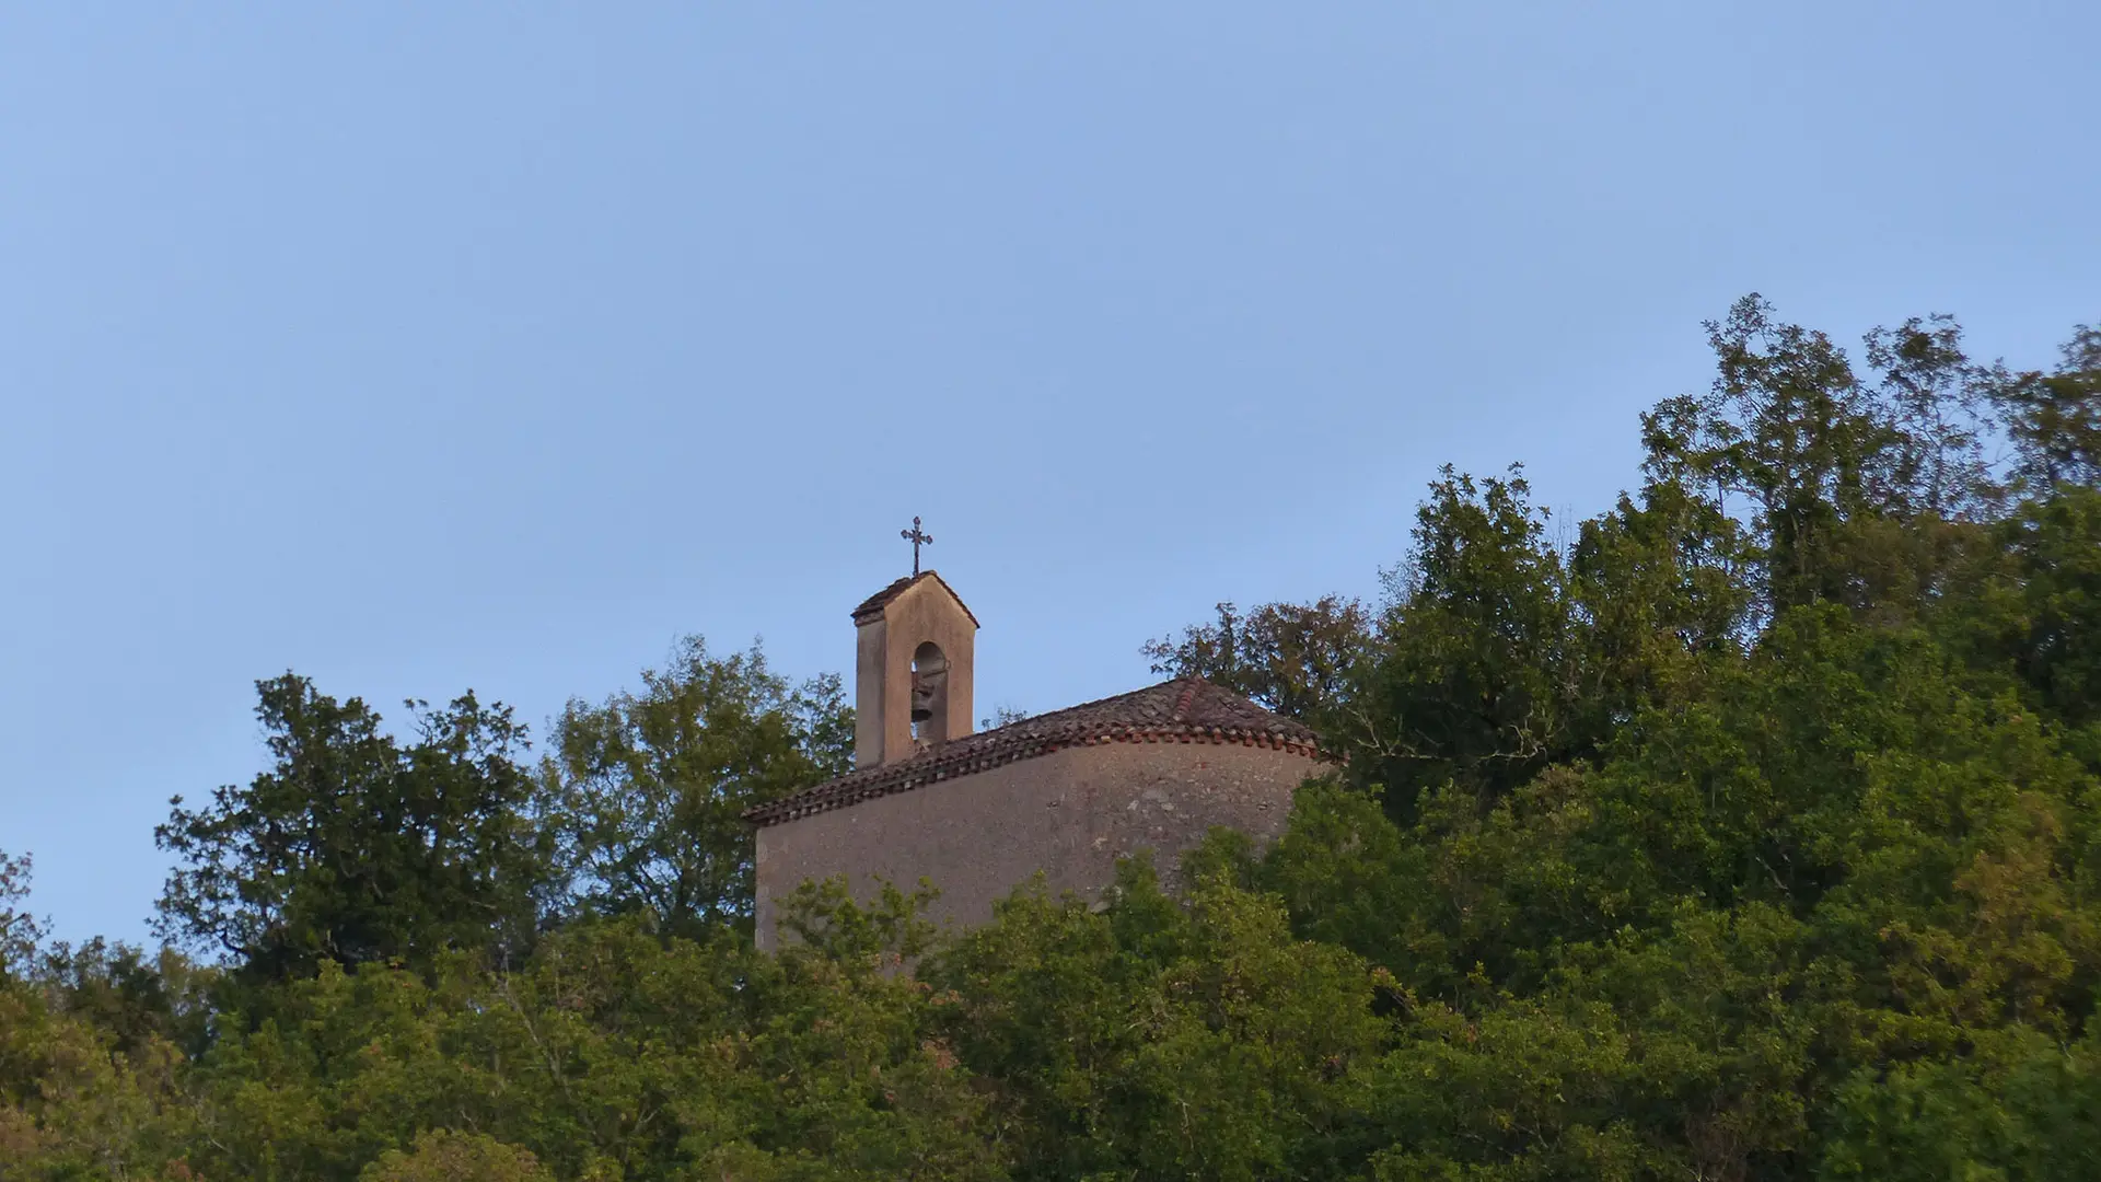
[[[931,572],[929,572],[931,574]],[[1099,702],[1027,717],[996,730],[929,747],[918,755],[861,768],[744,814],[752,824],[779,824],[870,797],[910,793],[935,780],[1099,742],[1237,742],[1322,757],[1313,732],[1273,715],[1231,690],[1181,677]]]

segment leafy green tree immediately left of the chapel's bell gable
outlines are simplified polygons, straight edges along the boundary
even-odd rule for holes
[[[578,904],[695,936],[752,923],[744,810],[853,770],[838,675],[790,686],[754,644],[708,654],[687,637],[641,692],[569,702],[542,776],[578,873]]]

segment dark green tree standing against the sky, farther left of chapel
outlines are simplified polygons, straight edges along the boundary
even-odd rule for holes
[[[359,698],[296,675],[261,681],[275,759],[202,808],[170,801],[155,829],[176,856],[155,919],[174,942],[237,963],[244,980],[305,976],[324,959],[429,963],[448,949],[515,955],[553,881],[536,833],[525,730],[473,694],[410,702],[408,747]]]

